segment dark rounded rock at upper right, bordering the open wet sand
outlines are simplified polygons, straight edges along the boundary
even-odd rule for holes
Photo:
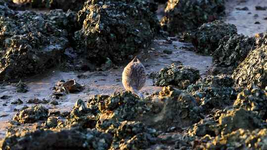
[[[215,20],[200,26],[194,33],[192,43],[196,52],[212,55],[223,37],[235,34],[237,34],[235,25]]]

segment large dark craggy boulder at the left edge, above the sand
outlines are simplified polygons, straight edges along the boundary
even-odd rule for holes
[[[0,80],[39,74],[61,62],[69,44],[67,29],[73,25],[73,13],[24,11],[0,16],[0,39],[5,39],[0,40]]]

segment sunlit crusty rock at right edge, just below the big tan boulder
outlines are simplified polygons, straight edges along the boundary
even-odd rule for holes
[[[267,93],[255,85],[249,85],[239,93],[233,106],[255,111],[261,118],[267,119]]]

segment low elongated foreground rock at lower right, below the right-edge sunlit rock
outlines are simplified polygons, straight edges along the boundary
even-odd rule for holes
[[[238,129],[255,130],[266,127],[266,122],[259,118],[253,111],[233,109],[221,111],[218,119],[205,118],[189,128],[191,136],[203,137],[209,135],[216,137],[226,135]]]

